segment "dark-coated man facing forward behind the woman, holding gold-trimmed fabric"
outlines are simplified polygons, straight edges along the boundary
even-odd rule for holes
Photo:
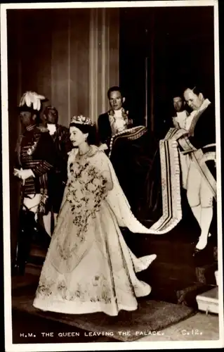
[[[155,141],[147,127],[134,127],[133,121],[137,119],[130,118],[124,109],[125,97],[119,87],[111,87],[107,96],[111,109],[98,118],[99,139],[105,149],[108,148],[106,153],[131,210],[143,220],[145,179],[151,167]]]

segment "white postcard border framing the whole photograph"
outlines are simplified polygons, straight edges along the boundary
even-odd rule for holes
[[[3,222],[4,222],[4,313],[5,313],[5,348],[11,351],[110,351],[129,349],[186,349],[186,348],[220,348],[223,346],[223,300],[219,299],[220,337],[218,341],[133,341],[133,342],[86,342],[57,344],[13,344],[11,317],[11,243],[10,243],[10,187],[9,187],[9,147],[8,147],[8,64],[7,64],[7,23],[8,9],[39,8],[124,8],[124,7],[178,7],[178,6],[213,6],[214,8],[214,54],[215,54],[215,101],[216,101],[216,153],[217,153],[217,202],[218,202],[218,294],[223,296],[223,240],[221,208],[221,152],[220,152],[220,84],[219,84],[219,36],[218,36],[218,0],[190,1],[120,1],[93,3],[42,3],[42,4],[1,4],[1,110],[2,110],[2,165],[3,165]],[[165,343],[166,342],[166,343]]]

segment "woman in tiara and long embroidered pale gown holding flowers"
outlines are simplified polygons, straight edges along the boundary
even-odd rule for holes
[[[109,158],[88,144],[91,121],[74,117],[68,181],[39,279],[34,307],[60,313],[136,310],[151,287],[136,277],[156,255],[136,258],[119,225],[147,231],[133,217]]]

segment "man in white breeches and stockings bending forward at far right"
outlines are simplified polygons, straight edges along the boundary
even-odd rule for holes
[[[202,89],[188,86],[185,101],[192,109],[189,128],[190,167],[187,175],[187,200],[201,228],[195,251],[206,247],[216,199],[216,113]],[[191,144],[191,145],[190,145]]]

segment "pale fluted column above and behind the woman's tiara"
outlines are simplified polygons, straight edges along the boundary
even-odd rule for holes
[[[119,9],[91,8],[89,32],[89,116],[107,111],[107,90],[119,84]]]

